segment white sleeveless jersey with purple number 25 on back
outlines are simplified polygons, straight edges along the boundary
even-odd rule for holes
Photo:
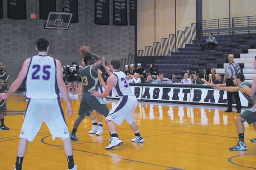
[[[26,76],[27,98],[57,98],[56,61],[50,56],[31,58]]]

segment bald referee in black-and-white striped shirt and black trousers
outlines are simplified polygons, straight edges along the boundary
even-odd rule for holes
[[[241,73],[241,69],[238,63],[234,62],[234,55],[230,54],[228,56],[228,61],[229,63],[226,66],[225,69],[225,75],[224,75],[224,81],[223,81],[223,86],[225,86],[225,82],[227,87],[228,86],[235,86],[233,83],[233,76],[237,73]],[[236,99],[236,110],[237,113],[241,113],[241,101],[239,98],[239,92],[227,92],[227,110],[225,112],[233,112],[232,111],[232,97],[233,94]]]

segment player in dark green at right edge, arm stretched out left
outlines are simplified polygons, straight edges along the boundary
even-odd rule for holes
[[[247,150],[244,144],[244,122],[247,121],[248,124],[253,124],[253,127],[256,131],[256,109],[252,108],[255,102],[253,101],[253,98],[250,97],[250,90],[252,88],[252,84],[244,81],[243,73],[237,73],[236,75],[234,75],[233,83],[235,87],[232,87],[232,86],[220,87],[215,84],[212,84],[212,87],[215,89],[225,90],[227,92],[241,91],[244,97],[248,100],[249,106],[251,107],[249,109],[246,109],[244,112],[242,112],[239,115],[239,117],[236,118],[236,127],[237,127],[239,142],[236,146],[229,148],[230,150]],[[254,91],[254,96],[255,95],[256,95],[256,92]],[[256,138],[251,139],[250,141],[256,142]]]

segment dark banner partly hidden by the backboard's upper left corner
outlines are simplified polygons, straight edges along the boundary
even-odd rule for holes
[[[50,12],[56,11],[56,0],[39,0],[39,18],[47,19]]]

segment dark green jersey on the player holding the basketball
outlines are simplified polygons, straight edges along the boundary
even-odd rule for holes
[[[98,74],[93,71],[93,65],[85,66],[79,71],[79,75],[82,79],[82,85],[85,92],[92,90],[98,90]]]

